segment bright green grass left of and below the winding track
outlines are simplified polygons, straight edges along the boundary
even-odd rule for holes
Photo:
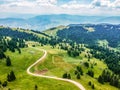
[[[26,69],[29,65],[41,57],[43,52],[33,48],[24,48],[22,49],[21,54],[17,51],[15,53],[7,51],[6,55],[10,56],[12,66],[7,67],[5,60],[0,60],[0,80],[2,82],[5,81],[7,74],[11,70],[15,72],[17,78],[15,81],[9,82],[7,88],[11,88],[12,90],[34,90],[34,86],[36,84],[38,86],[38,90],[79,90],[71,83],[34,77],[26,73]],[[7,88],[4,88],[3,90],[8,90]]]

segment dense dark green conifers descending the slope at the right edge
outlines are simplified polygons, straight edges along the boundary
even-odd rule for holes
[[[108,68],[116,74],[120,74],[120,52],[100,46],[89,46],[93,57],[104,60]]]

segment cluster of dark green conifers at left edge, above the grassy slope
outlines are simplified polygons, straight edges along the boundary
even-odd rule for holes
[[[7,50],[10,50],[11,52],[15,52],[15,50],[17,50],[21,53],[20,48],[24,47],[26,47],[26,44],[23,39],[0,36],[0,59],[6,58],[4,52]]]

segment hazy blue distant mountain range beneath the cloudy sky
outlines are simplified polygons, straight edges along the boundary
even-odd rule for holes
[[[80,16],[67,14],[39,15],[32,18],[1,18],[0,25],[25,29],[45,30],[51,27],[68,24],[110,23],[120,24],[120,16]]]

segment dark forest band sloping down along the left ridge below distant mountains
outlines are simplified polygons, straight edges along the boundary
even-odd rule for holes
[[[41,43],[41,45],[46,45],[46,44],[50,44],[52,47],[55,47],[56,44],[58,44],[59,42],[62,41],[62,39],[57,38],[57,37],[51,37],[49,35],[46,35],[42,32],[39,31],[33,31],[32,32],[38,33],[38,34],[42,34],[46,37],[39,37],[34,33],[27,33],[27,32],[21,32],[19,31],[19,28],[17,28],[16,30],[12,30],[11,28],[7,27],[2,27],[0,28],[0,35],[1,36],[9,36],[12,38],[19,38],[21,40],[25,40],[25,41],[36,41]],[[22,46],[22,45],[21,45]]]

